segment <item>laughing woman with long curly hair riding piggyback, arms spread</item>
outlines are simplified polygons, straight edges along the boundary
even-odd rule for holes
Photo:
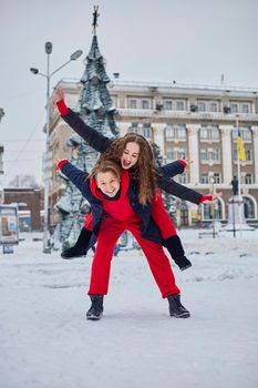
[[[171,169],[163,166],[159,171],[155,166],[152,149],[148,142],[141,135],[127,133],[125,136],[112,140],[103,136],[101,133],[86,125],[84,121],[71,109],[69,109],[63,100],[62,90],[56,91],[56,106],[64,121],[72,126],[93,149],[104,153],[106,159],[121,163],[123,170],[130,172],[131,177],[138,184],[138,200],[141,204],[152,201],[152,217],[161,228],[164,245],[168,249],[172,258],[184,270],[192,266],[189,259],[185,256],[185,252],[177,235],[176,228],[169,218],[157,186],[166,192],[190,201],[195,204],[203,203],[209,197],[177,184],[165,175],[173,175]],[[184,171],[184,161],[176,162]],[[74,247],[62,252],[63,258],[72,258],[85,255],[91,238],[91,227],[83,227]]]

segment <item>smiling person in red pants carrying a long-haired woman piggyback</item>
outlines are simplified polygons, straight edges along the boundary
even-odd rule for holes
[[[151,206],[136,201],[137,187],[128,172],[106,160],[99,160],[90,176],[66,160],[58,165],[92,206],[92,231],[97,244],[91,270],[89,295],[92,305],[86,313],[87,319],[100,319],[103,314],[114,247],[124,231],[130,231],[143,249],[163,298],[168,299],[171,316],[188,318],[190,314],[180,303],[180,290],[162,248],[159,231],[148,219]]]

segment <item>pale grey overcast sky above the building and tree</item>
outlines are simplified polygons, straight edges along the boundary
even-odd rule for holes
[[[80,79],[100,6],[99,45],[107,74],[121,80],[220,84],[258,89],[258,0],[0,0],[0,145],[3,183],[17,174],[41,181],[45,149],[44,43],[51,71],[75,50],[83,55],[51,79]]]

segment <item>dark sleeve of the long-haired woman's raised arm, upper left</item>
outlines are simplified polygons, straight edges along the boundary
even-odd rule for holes
[[[113,142],[112,139],[104,136],[102,133],[84,123],[80,115],[71,109],[69,109],[68,114],[62,118],[91,147],[100,153],[105,152]]]

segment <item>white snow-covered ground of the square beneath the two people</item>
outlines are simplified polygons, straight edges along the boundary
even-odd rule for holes
[[[179,235],[173,265],[189,319],[168,315],[144,256],[113,261],[104,317],[85,313],[92,254],[63,261],[25,241],[0,254],[1,388],[257,388],[258,231]]]

